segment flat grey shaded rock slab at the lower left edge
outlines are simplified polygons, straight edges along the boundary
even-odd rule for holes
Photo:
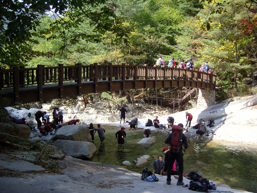
[[[0,171],[12,172],[44,172],[45,169],[41,166],[34,165],[24,160],[0,160]]]

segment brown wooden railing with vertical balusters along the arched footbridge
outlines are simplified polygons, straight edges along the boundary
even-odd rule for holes
[[[216,76],[195,70],[181,68],[164,68],[157,66],[134,65],[81,65],[45,67],[38,65],[36,68],[15,67],[14,69],[0,70],[0,89],[44,85],[65,82],[81,81],[113,81],[113,80],[191,80],[198,82],[216,83]],[[40,87],[39,86],[39,87]],[[15,90],[14,89],[14,90]]]

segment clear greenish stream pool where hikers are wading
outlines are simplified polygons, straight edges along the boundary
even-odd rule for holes
[[[143,129],[130,131],[126,129],[127,137],[124,148],[118,148],[115,133],[118,129],[106,129],[105,144],[100,145],[98,135],[95,135],[95,146],[98,151],[90,160],[105,164],[123,166],[131,171],[142,172],[143,168],[122,165],[123,161],[137,160],[142,155],[150,155],[148,165],[150,171],[158,155],[163,155],[162,148],[168,134],[153,131],[151,137],[156,142],[151,146],[137,144],[143,138]],[[188,151],[184,154],[184,173],[197,171],[203,177],[217,183],[226,184],[231,188],[257,192],[257,157],[256,148],[235,143],[224,143],[213,140],[195,140],[188,137]],[[225,165],[224,165],[225,164]],[[233,166],[233,168],[228,168]]]

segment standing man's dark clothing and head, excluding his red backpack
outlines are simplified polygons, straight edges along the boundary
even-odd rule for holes
[[[173,128],[177,128],[178,126],[182,127],[183,129],[183,124],[180,123],[178,125],[174,125]],[[172,133],[169,135],[169,137],[165,140],[165,143],[170,143],[170,140],[172,138]],[[184,149],[182,147],[182,145],[184,144]],[[174,164],[174,161],[177,160],[178,162],[178,168],[179,168],[179,175],[178,175],[178,181],[177,181],[177,185],[181,186],[184,185],[183,182],[183,152],[182,149],[184,150],[184,152],[186,151],[188,144],[187,144],[187,136],[185,136],[184,134],[182,135],[182,141],[180,141],[180,152],[178,153],[173,153],[172,151],[169,151],[169,159],[168,159],[168,170],[167,170],[167,184],[170,185],[170,181],[171,181],[171,170]]]

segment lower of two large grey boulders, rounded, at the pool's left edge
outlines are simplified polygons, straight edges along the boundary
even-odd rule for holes
[[[95,145],[90,142],[57,140],[52,145],[61,149],[68,156],[79,159],[90,159],[97,151]]]

